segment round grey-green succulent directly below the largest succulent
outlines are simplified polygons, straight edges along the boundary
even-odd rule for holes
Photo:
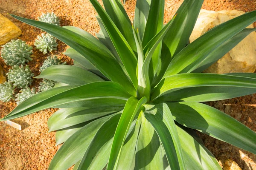
[[[15,65],[7,73],[9,81],[17,88],[26,88],[31,85],[33,76],[28,65]]]

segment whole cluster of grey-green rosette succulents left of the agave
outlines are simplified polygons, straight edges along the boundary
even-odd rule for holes
[[[42,14],[38,17],[38,20],[60,26],[60,18],[53,12]],[[57,39],[52,35],[42,33],[38,35],[34,45],[39,51],[47,54],[47,52],[57,50],[58,43]],[[29,88],[34,74],[30,71],[29,66],[26,65],[27,62],[32,60],[32,46],[27,45],[23,40],[12,40],[2,47],[1,57],[6,62],[6,65],[10,65],[12,68],[9,69],[9,73],[6,74],[8,82],[0,84],[0,100],[9,102],[11,99],[17,97],[15,101],[17,101],[17,105],[19,105],[27,98],[36,94],[35,88]],[[62,63],[56,56],[47,57],[40,67],[40,72],[52,65],[59,64],[65,64],[65,62]],[[43,79],[38,87],[38,93],[53,88],[56,83],[57,82],[49,79]],[[15,95],[15,88],[20,88],[20,93],[17,95]]]

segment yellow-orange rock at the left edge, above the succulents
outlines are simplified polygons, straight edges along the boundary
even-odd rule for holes
[[[12,21],[8,20],[0,14],[0,45],[9,42],[10,40],[19,37],[21,34],[18,28]]]

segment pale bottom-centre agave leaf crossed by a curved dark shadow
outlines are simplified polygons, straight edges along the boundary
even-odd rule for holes
[[[136,145],[135,170],[163,170],[163,155],[159,138],[152,125],[142,116]]]

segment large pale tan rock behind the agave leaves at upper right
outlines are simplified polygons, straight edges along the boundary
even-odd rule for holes
[[[189,38],[190,42],[209,31],[211,28],[224,23],[230,19],[244,14],[243,11],[200,11],[195,28]],[[253,28],[253,24],[247,28]],[[207,73],[253,73],[256,69],[256,32],[249,34],[236,47],[224,55],[218,62],[215,62],[204,72]]]

